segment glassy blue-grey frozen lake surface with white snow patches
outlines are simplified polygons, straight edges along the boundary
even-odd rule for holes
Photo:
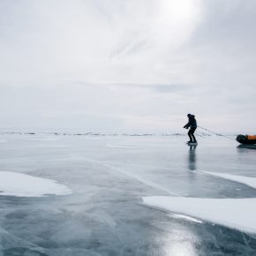
[[[186,140],[1,134],[0,256],[256,255],[256,150]]]

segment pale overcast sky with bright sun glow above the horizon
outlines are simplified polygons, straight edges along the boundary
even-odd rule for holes
[[[256,133],[256,1],[0,0],[0,126]]]

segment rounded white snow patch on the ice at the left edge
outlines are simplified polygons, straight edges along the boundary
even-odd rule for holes
[[[42,197],[48,195],[67,195],[72,190],[56,181],[32,177],[22,173],[0,171],[0,195],[18,197]]]

